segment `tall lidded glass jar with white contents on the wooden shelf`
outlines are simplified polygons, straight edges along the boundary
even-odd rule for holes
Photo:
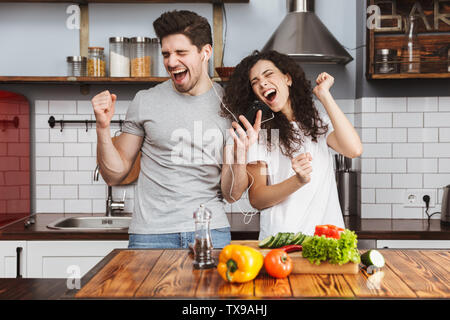
[[[130,39],[109,38],[109,75],[111,77],[130,76]]]

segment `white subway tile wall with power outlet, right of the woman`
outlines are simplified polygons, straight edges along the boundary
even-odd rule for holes
[[[404,206],[407,189],[432,189],[429,212],[439,211],[442,187],[450,184],[450,98],[362,98],[355,107],[364,145],[362,217],[427,218],[424,208]]]

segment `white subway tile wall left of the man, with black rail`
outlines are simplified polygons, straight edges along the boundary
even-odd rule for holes
[[[114,119],[125,117],[130,101],[118,101]],[[59,123],[50,128],[48,119],[92,120],[90,101],[37,100],[35,112],[36,212],[104,213],[107,186],[102,177],[94,181],[97,135],[95,125]],[[113,135],[118,126],[111,129]],[[125,194],[125,211],[134,209],[134,187],[113,187],[114,199]]]

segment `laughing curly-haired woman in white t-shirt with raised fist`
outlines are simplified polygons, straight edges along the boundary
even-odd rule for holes
[[[320,224],[344,228],[329,148],[355,158],[361,155],[362,144],[330,94],[333,83],[332,76],[321,73],[312,89],[302,68],[276,51],[253,52],[230,78],[224,116],[233,119],[227,109],[245,114],[255,99],[274,113],[261,125],[263,131],[248,147],[246,159],[249,200],[261,211],[260,240],[277,232],[313,234]],[[313,93],[327,114],[314,106]],[[235,140],[255,134],[244,132],[236,122],[233,128]]]

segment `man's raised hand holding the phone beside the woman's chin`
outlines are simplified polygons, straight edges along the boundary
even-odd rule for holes
[[[259,110],[256,113],[255,124],[252,126],[250,122],[244,116],[239,116],[239,120],[241,120],[242,124],[245,126],[247,131],[244,131],[242,127],[236,122],[232,122],[232,126],[236,129],[234,132],[233,128],[230,128],[230,134],[234,139],[234,163],[237,164],[246,164],[247,151],[250,146],[258,141],[259,131],[261,131],[261,118],[262,111]]]

